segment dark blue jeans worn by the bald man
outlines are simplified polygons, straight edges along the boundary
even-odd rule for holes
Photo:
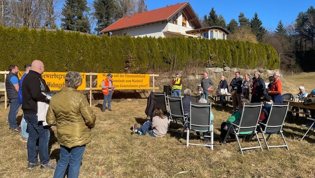
[[[38,153],[41,164],[49,162],[48,142],[50,137],[49,129],[42,126],[42,122],[37,121],[36,114],[24,114],[27,122],[27,160],[32,163],[37,162],[36,141],[38,138]]]

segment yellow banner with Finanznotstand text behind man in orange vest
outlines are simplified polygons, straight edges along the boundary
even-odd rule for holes
[[[149,89],[149,74],[111,73],[115,89]],[[97,89],[101,89],[102,81],[107,73],[97,73]]]

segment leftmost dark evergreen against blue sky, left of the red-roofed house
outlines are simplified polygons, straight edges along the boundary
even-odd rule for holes
[[[65,0],[62,7],[61,27],[67,30],[90,32],[88,11],[86,0]]]

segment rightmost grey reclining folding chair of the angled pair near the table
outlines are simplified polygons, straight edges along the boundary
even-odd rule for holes
[[[289,150],[287,143],[285,141],[282,127],[284,125],[284,119],[286,117],[287,109],[289,107],[289,103],[272,103],[270,108],[270,113],[267,118],[266,123],[259,123],[259,129],[262,133],[262,137],[264,140],[264,143],[267,146],[267,149],[270,150],[270,147],[286,147],[287,150]],[[271,134],[274,133],[280,133],[281,137],[283,139],[284,144],[282,145],[268,145],[267,141]],[[268,137],[265,137],[265,134],[268,134]]]

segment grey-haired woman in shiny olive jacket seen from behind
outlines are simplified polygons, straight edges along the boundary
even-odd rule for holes
[[[79,72],[67,72],[65,87],[54,94],[49,102],[46,121],[56,125],[60,144],[60,159],[53,177],[63,177],[68,165],[67,177],[77,177],[85,144],[91,141],[90,131],[95,125],[96,116],[84,95],[76,90],[81,83]]]

